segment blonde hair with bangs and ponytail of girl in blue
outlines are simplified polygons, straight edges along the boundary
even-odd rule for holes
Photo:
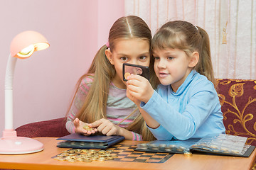
[[[170,21],[165,23],[151,41],[151,50],[178,48],[190,56],[199,53],[199,61],[194,69],[212,81],[215,86],[213,64],[210,57],[210,40],[206,30],[193,26],[187,21]]]

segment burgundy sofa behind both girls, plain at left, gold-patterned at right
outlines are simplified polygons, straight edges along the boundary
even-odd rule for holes
[[[247,145],[256,146],[256,80],[217,79],[226,133],[247,137]],[[28,123],[16,128],[23,137],[62,137],[65,118]]]

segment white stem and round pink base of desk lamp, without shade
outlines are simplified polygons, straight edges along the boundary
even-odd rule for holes
[[[16,57],[9,55],[5,78],[5,130],[0,138],[0,154],[29,154],[43,150],[43,144],[28,137],[17,137],[13,129],[13,80]]]

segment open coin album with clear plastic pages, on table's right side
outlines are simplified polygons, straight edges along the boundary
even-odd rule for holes
[[[169,152],[186,154],[188,152],[206,152],[237,157],[249,157],[254,146],[245,145],[247,137],[226,134],[207,135],[201,139],[189,140],[155,140],[138,144],[136,150],[147,152]]]

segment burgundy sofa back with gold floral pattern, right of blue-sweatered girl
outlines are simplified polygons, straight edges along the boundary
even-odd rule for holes
[[[256,146],[256,80],[217,79],[226,133]]]

